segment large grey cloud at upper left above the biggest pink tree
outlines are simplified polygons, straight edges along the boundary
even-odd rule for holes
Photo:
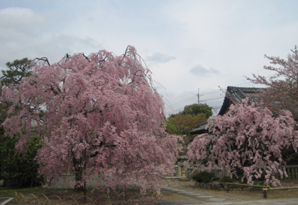
[[[54,63],[66,53],[89,55],[102,49],[101,43],[92,37],[55,33],[57,28],[50,28],[48,23],[29,8],[0,10],[0,30],[5,30],[0,33],[0,70],[6,69],[6,62],[24,57],[48,57],[50,63]]]

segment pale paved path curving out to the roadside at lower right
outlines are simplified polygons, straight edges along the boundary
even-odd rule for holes
[[[188,205],[197,205],[197,204],[223,204],[223,205],[250,205],[250,204],[260,204],[260,205],[297,205],[297,199],[263,199],[258,201],[243,201],[240,199],[233,199],[229,197],[222,197],[216,194],[209,194],[206,192],[199,192],[194,189],[187,189],[182,187],[163,187],[162,192],[167,192],[170,194],[175,194],[178,197],[183,197],[184,201],[160,201],[158,204],[188,204]],[[297,196],[298,197],[298,196]]]

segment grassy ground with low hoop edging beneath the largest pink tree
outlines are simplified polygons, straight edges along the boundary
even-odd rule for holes
[[[128,190],[127,199],[118,192],[100,192],[98,190],[88,190],[86,204],[146,204],[155,200],[155,194],[148,193],[140,195],[138,189]],[[13,197],[14,203],[21,204],[85,204],[84,192],[74,192],[72,189],[47,189],[47,188],[27,188],[27,189],[0,189],[0,197]]]

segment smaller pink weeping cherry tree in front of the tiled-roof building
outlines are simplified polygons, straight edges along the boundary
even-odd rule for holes
[[[189,144],[190,161],[207,159],[209,171],[221,168],[244,170],[248,184],[253,177],[265,173],[265,184],[277,185],[275,175],[286,175],[280,165],[286,163],[282,150],[293,146],[297,152],[298,133],[289,111],[282,110],[278,117],[262,104],[249,102],[231,105],[223,116],[214,117],[211,134],[202,134]]]

